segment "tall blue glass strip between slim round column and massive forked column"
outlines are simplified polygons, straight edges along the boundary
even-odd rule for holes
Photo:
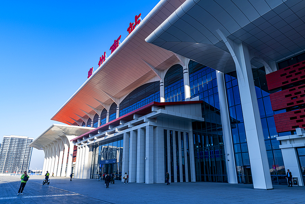
[[[238,183],[252,183],[246,131],[242,116],[236,72],[225,74],[231,133]]]

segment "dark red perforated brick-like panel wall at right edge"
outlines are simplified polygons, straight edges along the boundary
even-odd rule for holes
[[[305,61],[266,75],[268,89],[281,88],[270,94],[273,111],[287,110],[274,115],[277,132],[305,128]]]

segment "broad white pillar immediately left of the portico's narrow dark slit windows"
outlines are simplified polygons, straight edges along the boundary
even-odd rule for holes
[[[164,183],[166,172],[164,166],[164,131],[157,126],[153,128],[153,153],[154,153],[154,183]]]

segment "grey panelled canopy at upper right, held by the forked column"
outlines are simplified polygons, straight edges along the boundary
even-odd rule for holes
[[[219,31],[270,63],[305,50],[304,22],[303,0],[187,0],[146,41],[228,73],[235,63]]]

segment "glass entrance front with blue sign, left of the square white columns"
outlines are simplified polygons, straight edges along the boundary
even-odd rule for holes
[[[123,161],[123,135],[117,139],[104,140],[100,144],[92,146],[92,161],[90,178],[96,179],[99,172],[112,173],[117,179],[122,176]],[[114,160],[115,162],[105,164],[103,160]],[[104,163],[104,164],[101,164]]]

